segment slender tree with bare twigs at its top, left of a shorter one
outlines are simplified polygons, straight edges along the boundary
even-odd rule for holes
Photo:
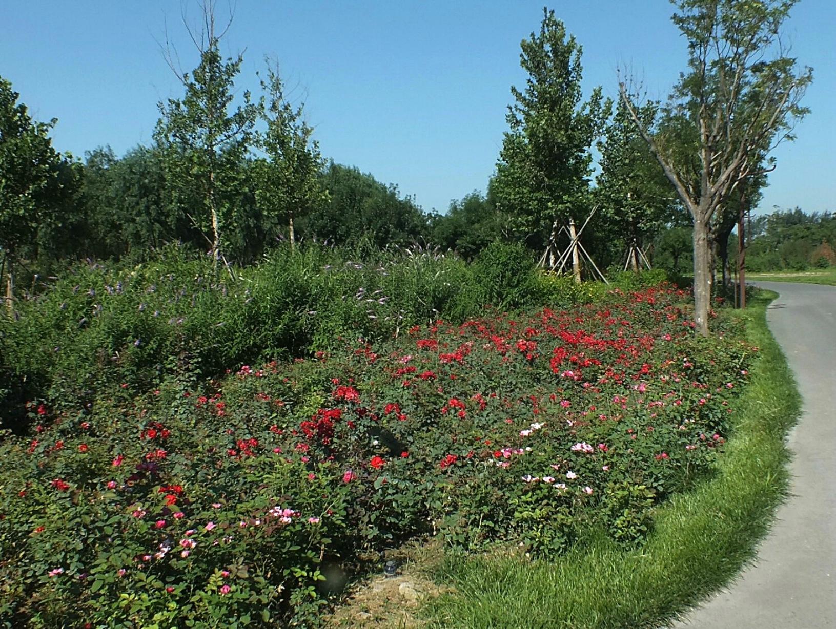
[[[190,30],[201,59],[191,74],[177,70],[175,55],[166,51],[186,94],[159,104],[155,139],[162,151],[171,203],[190,216],[197,229],[212,235],[207,240],[217,261],[223,247],[236,240],[237,235],[229,232],[243,221],[240,211],[245,204],[238,202],[247,192],[243,165],[259,108],[248,91],[242,104],[233,104],[234,80],[243,57],[222,58],[220,42],[226,30],[216,33],[213,9],[212,3],[203,6],[200,37]]]

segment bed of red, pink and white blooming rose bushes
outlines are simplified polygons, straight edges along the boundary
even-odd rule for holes
[[[326,566],[416,535],[640,545],[711,474],[755,351],[721,320],[696,337],[684,297],[436,322],[209,383],[184,360],[78,413],[33,403],[3,444],[0,618],[307,626]]]

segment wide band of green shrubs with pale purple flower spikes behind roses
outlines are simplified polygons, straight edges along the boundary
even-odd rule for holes
[[[138,266],[80,264],[0,317],[0,391],[15,408],[33,398],[72,405],[99,381],[149,388],[182,361],[213,376],[482,310],[472,270],[455,256],[421,247],[362,262],[343,254],[279,248],[234,278],[177,247]],[[4,415],[8,426],[20,421]]]

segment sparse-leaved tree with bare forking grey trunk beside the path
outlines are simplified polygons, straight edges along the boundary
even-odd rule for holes
[[[626,84],[621,99],[694,221],[696,325],[708,334],[711,299],[710,229],[717,208],[761,157],[784,139],[808,109],[800,105],[813,80],[798,69],[780,29],[797,0],[671,0],[673,22],[688,39],[688,70],[671,96],[671,108],[691,128],[690,155],[642,124]],[[694,170],[696,168],[696,175]]]

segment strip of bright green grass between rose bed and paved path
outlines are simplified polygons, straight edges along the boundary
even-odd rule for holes
[[[614,629],[674,621],[752,561],[788,491],[784,436],[798,418],[793,375],[766,325],[777,297],[763,291],[735,316],[761,348],[718,474],[658,510],[639,550],[590,539],[559,561],[447,555],[436,581],[454,592],[430,601],[430,627]],[[593,535],[594,536],[594,535]]]

